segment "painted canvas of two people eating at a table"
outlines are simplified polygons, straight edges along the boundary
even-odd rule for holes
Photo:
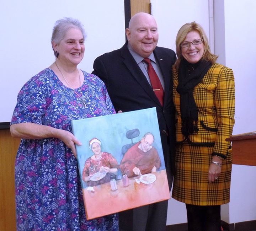
[[[155,108],[71,125],[87,219],[170,199]]]

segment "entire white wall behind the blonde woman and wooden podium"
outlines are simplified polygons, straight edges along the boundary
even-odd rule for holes
[[[159,46],[175,48],[178,29],[186,22],[202,25],[218,62],[234,71],[236,104],[233,134],[256,130],[256,1],[151,0],[159,28]],[[212,15],[213,7],[213,15]],[[213,17],[213,18],[212,18]],[[214,36],[212,27],[214,26]],[[214,42],[214,43],[213,43]],[[230,203],[222,205],[228,223],[256,220],[256,167],[233,165]],[[169,200],[167,225],[187,222],[185,204]]]

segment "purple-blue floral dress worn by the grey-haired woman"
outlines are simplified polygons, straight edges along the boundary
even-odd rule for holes
[[[71,120],[115,113],[103,82],[84,73],[75,92],[51,69],[32,77],[18,93],[11,124],[36,123],[71,131]],[[82,94],[81,94],[82,89]],[[22,139],[15,163],[17,230],[118,230],[118,215],[86,220],[76,158],[57,138]]]

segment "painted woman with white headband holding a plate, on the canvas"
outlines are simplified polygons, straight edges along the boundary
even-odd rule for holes
[[[85,161],[82,179],[88,186],[95,186],[110,181],[119,168],[117,160],[108,152],[101,151],[101,141],[93,138],[89,141],[93,155]]]

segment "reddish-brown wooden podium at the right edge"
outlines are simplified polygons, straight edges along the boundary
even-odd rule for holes
[[[256,166],[256,131],[232,135],[233,163],[236,165]]]

